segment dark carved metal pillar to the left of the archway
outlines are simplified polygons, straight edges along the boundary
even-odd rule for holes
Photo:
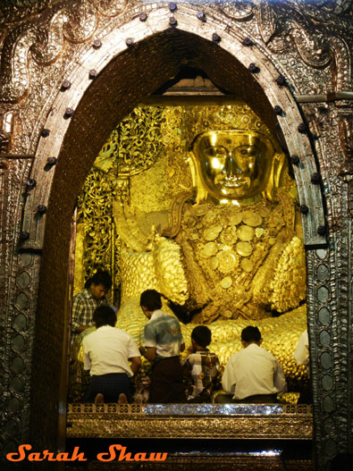
[[[41,259],[39,253],[21,253],[21,211],[30,164],[25,156],[0,155],[2,460],[29,437],[29,378]]]

